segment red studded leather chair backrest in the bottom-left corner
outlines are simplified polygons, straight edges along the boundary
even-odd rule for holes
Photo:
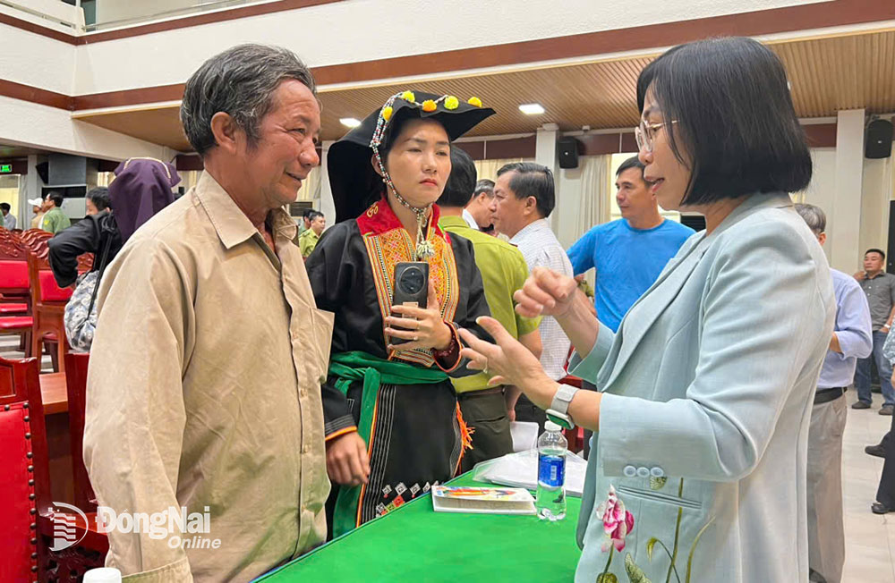
[[[38,359],[0,358],[0,452],[0,581],[37,580],[38,514],[50,506]]]

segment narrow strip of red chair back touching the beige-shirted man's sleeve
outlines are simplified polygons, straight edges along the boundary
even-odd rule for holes
[[[84,407],[87,403],[87,367],[90,353],[65,355],[65,384],[68,389],[68,430],[72,440],[74,505],[85,512],[97,511],[96,494],[84,467]]]

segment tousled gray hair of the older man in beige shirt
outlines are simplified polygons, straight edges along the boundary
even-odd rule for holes
[[[271,96],[286,79],[302,82],[317,95],[308,67],[280,46],[233,46],[202,63],[186,81],[180,106],[180,122],[192,148],[204,156],[217,146],[211,118],[218,112],[230,114],[250,145],[257,143],[260,121],[272,106]]]

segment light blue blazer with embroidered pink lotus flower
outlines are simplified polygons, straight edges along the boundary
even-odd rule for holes
[[[788,195],[756,194],[686,241],[617,334],[600,326],[572,363],[604,393],[575,581],[609,561],[609,486],[635,519],[609,563],[618,581],[808,580],[808,421],[835,309]]]

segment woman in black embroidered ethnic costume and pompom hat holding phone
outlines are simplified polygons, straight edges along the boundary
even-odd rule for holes
[[[469,447],[448,376],[474,373],[457,330],[488,337],[475,318],[489,309],[472,244],[439,229],[434,202],[450,142],[493,113],[405,91],[329,148],[337,224],[306,267],[317,307],[336,314],[322,386],[335,537],[454,477]],[[425,309],[392,306],[405,261],[429,264]]]

